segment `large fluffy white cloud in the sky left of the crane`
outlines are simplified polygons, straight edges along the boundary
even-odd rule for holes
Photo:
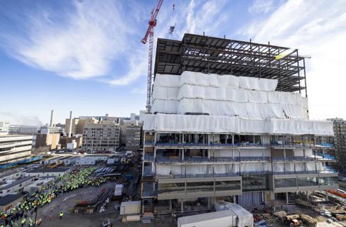
[[[73,6],[59,20],[50,19],[50,11],[23,12],[20,28],[26,35],[3,32],[2,45],[16,59],[66,77],[107,74],[133,33],[129,21],[124,23],[121,3],[75,1]]]

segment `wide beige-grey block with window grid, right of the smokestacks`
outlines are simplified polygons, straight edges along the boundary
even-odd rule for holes
[[[116,150],[119,148],[120,126],[116,121],[95,118],[85,122],[82,148],[90,151]]]

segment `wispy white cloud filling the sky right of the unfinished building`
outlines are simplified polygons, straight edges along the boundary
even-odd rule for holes
[[[254,23],[261,26],[252,26]],[[240,33],[255,42],[298,48],[301,55],[312,57],[306,61],[312,118],[346,116],[342,106],[346,1],[287,1],[268,18],[255,18],[244,28]]]

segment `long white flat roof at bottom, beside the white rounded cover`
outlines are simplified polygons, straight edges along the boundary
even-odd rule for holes
[[[205,213],[205,214],[197,214],[197,215],[192,215],[192,216],[180,217],[180,218],[178,218],[178,222],[180,224],[188,224],[188,223],[207,221],[207,220],[212,220],[212,219],[217,219],[217,218],[224,218],[224,217],[228,217],[228,216],[237,216],[237,215],[234,214],[234,212],[230,211],[230,210],[215,211],[215,212],[210,212],[210,213]]]

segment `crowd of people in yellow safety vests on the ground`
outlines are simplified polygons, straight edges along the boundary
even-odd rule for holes
[[[24,197],[21,203],[6,211],[6,213],[1,211],[0,227],[17,227],[18,223],[21,226],[36,226],[35,221],[37,220],[36,218],[33,219],[33,214],[37,214],[38,208],[50,204],[55,197],[81,187],[99,186],[99,184],[105,182],[104,177],[93,177],[91,175],[95,169],[95,167],[87,167],[57,177],[54,184],[43,187],[40,192]],[[59,218],[62,218],[63,211],[59,211],[58,215]],[[38,222],[40,222],[40,218]]]

